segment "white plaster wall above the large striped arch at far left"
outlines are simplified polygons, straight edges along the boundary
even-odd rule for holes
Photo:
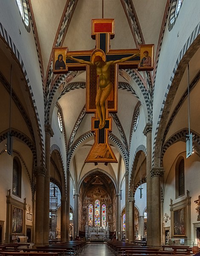
[[[2,23],[16,48],[20,52],[31,84],[36,102],[35,104],[42,124],[42,130],[44,132],[43,89],[38,54],[35,47],[35,39],[32,29],[30,32],[26,31],[15,1],[0,0],[0,23]]]

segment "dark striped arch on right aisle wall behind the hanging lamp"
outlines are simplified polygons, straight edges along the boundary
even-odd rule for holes
[[[160,166],[163,165],[163,157],[164,157],[164,154],[166,152],[166,150],[171,146],[173,145],[174,143],[177,143],[179,141],[183,141],[186,143],[186,134],[188,134],[188,129],[185,129],[185,130],[182,130],[182,131],[179,131],[177,132],[176,134],[174,134],[172,137],[170,137],[166,142],[165,144],[163,145],[162,147],[162,151],[161,151],[161,157],[160,157]],[[195,134],[194,132],[192,132],[193,134],[193,142],[194,142],[194,146],[195,144],[196,145],[200,145],[200,137]],[[199,148],[195,148],[197,149],[197,151],[199,151]]]

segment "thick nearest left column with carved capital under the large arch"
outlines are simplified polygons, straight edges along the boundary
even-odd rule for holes
[[[36,176],[35,245],[40,246],[43,245],[44,177],[46,176],[46,169],[45,167],[35,167],[34,173]]]

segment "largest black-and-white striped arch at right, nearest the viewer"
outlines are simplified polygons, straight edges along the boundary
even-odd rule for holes
[[[160,113],[159,113],[159,119],[158,119],[158,122],[157,122],[156,131],[155,131],[154,145],[153,145],[153,152],[152,152],[152,167],[154,167],[154,156],[155,156],[155,149],[156,149],[156,144],[157,144],[157,137],[158,137],[158,134],[159,134],[159,125],[160,125],[160,122],[161,122],[161,117],[162,117],[162,114],[163,114],[163,110],[165,108],[165,103],[166,103],[166,100],[167,100],[167,97],[168,97],[168,93],[169,93],[171,84],[174,80],[174,76],[175,76],[175,73],[177,72],[177,69],[178,69],[178,66],[179,66],[180,62],[182,61],[181,68],[183,69],[183,65],[186,66],[189,59],[191,58],[191,57],[188,56],[188,58],[183,59],[183,56],[186,54],[186,51],[189,49],[189,47],[191,47],[191,44],[193,44],[193,43],[195,44],[194,47],[193,47],[194,48],[193,50],[194,51],[196,50],[197,45],[194,42],[194,40],[197,37],[200,38],[200,23],[198,23],[198,25],[195,27],[195,29],[193,30],[193,32],[189,36],[188,40],[184,44],[183,48],[181,49],[181,51],[178,55],[177,61],[175,63],[174,69],[172,71],[171,77],[169,79],[168,87],[166,89],[165,97],[164,97],[163,102],[162,102],[162,108],[161,108]],[[191,54],[191,53],[188,53],[188,54]],[[157,148],[159,148],[158,150],[161,149],[161,146],[162,145],[157,145]],[[159,154],[160,154],[160,152],[159,152]],[[157,157],[158,157],[158,154],[157,154]]]

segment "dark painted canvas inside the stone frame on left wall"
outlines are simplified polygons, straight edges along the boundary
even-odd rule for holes
[[[23,233],[23,209],[12,205],[11,233]]]

